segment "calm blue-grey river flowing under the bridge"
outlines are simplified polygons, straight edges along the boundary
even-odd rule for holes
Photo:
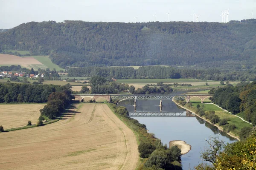
[[[182,94],[187,91],[178,91],[174,94]],[[159,100],[137,100],[137,112],[157,112],[160,111]],[[163,100],[163,112],[184,112],[171,100]],[[125,106],[128,111],[134,112],[134,101],[123,100],[118,105]],[[202,162],[200,153],[207,147],[205,139],[211,136],[218,137],[224,142],[236,142],[236,139],[228,136],[227,133],[220,132],[217,127],[205,122],[199,117],[139,117],[133,116],[140,123],[147,126],[149,133],[162,140],[163,144],[169,147],[169,141],[182,140],[191,145],[191,150],[181,157],[183,170],[193,169]]]

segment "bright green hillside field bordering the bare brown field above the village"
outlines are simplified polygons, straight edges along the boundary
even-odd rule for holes
[[[43,65],[34,65],[34,64],[30,65],[31,68],[34,68],[36,70],[38,70],[38,68],[41,68],[41,69],[50,68],[50,70],[53,70],[53,68],[55,68],[56,71],[63,70],[63,68],[60,68],[58,65],[53,64],[51,59],[49,59],[49,56],[23,56],[23,57],[33,57],[43,64]]]

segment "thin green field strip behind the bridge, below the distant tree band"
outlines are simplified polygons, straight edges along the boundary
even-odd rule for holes
[[[173,82],[205,82],[200,79],[118,79],[117,82],[122,83],[173,83]],[[211,82],[209,80],[209,82]]]

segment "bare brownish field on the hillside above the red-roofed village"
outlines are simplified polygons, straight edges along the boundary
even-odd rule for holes
[[[33,57],[18,57],[10,54],[0,54],[0,61],[1,65],[43,65],[38,60],[34,59]]]

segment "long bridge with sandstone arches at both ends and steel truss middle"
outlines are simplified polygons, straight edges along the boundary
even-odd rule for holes
[[[122,95],[122,94],[74,94],[73,95],[75,98],[79,99],[79,101],[81,102],[82,99],[84,99],[85,97],[89,97],[90,99],[94,100],[97,99],[99,97],[103,97],[105,98],[108,102],[111,101],[111,99],[113,100],[125,100],[125,99],[132,99],[135,100],[140,100],[140,99],[146,99],[146,100],[156,100],[159,99],[160,100],[160,105],[162,104],[162,99],[175,99],[175,100],[184,100],[186,99],[186,102],[189,102],[190,99],[194,98],[194,97],[198,97],[199,99],[201,99],[201,103],[204,102],[205,99],[208,99],[209,97],[211,97],[212,95],[197,95],[197,94],[188,94],[188,95],[133,95],[133,94],[127,94],[127,95]]]

